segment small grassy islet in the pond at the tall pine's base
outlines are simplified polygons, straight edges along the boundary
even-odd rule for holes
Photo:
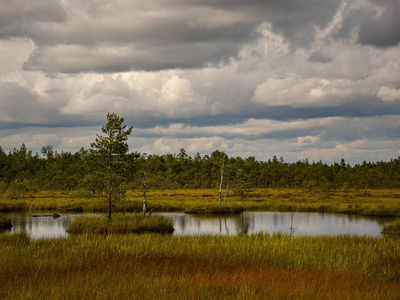
[[[102,216],[83,216],[75,219],[68,233],[172,233],[172,221],[163,216],[116,215],[112,221]]]

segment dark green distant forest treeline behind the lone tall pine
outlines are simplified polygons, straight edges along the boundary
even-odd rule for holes
[[[0,193],[19,198],[23,193],[38,190],[87,190],[96,194],[102,190],[96,175],[86,163],[89,152],[76,153],[42,148],[33,154],[23,144],[6,153],[0,147]],[[140,189],[143,173],[152,189],[218,188],[307,188],[313,190],[400,188],[400,157],[387,162],[363,162],[350,166],[343,159],[331,165],[308,160],[285,162],[274,156],[268,161],[254,157],[228,157],[214,151],[211,155],[189,156],[184,149],[179,154],[142,155],[132,153],[125,172],[124,186]],[[224,161],[224,163],[222,163]]]

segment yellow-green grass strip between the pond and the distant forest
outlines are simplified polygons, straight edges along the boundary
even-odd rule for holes
[[[0,211],[103,212],[106,201],[100,198],[75,198],[70,193],[40,192],[21,200],[0,200]],[[115,211],[140,212],[142,192],[130,190],[123,200],[114,201]],[[400,216],[400,190],[364,190],[309,192],[300,189],[257,189],[244,201],[229,194],[227,204],[217,204],[215,190],[150,190],[149,208],[153,211],[229,212],[235,211],[302,211],[346,213],[364,216]]]

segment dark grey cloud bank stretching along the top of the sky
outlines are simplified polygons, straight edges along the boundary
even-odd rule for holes
[[[119,0],[112,7],[107,1],[2,1],[0,37],[35,42],[37,48],[24,64],[30,71],[199,68],[235,57],[244,42],[257,37],[263,22],[292,48],[309,47],[316,28],[326,27],[340,5],[343,1]],[[397,44],[398,6],[378,3],[374,9],[359,9],[346,34],[360,26],[362,44]],[[376,9],[383,10],[379,16]]]

